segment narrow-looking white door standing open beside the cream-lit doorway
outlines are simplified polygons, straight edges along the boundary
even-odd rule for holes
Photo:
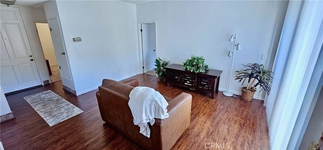
[[[65,51],[62,32],[59,24],[59,20],[57,18],[49,19],[48,25],[50,28],[50,34],[52,43],[55,49],[57,62],[60,68],[60,74],[62,78],[62,83],[65,86],[70,88],[74,88],[74,83],[70,71],[70,66],[68,63],[67,52]]]

